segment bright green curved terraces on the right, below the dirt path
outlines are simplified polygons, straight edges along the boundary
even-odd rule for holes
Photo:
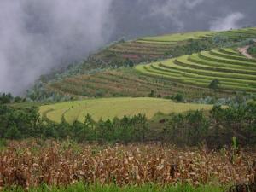
[[[213,79],[219,89],[256,92],[256,60],[247,59],[235,49],[214,49],[198,54],[138,65],[137,71],[173,81],[208,87]]]

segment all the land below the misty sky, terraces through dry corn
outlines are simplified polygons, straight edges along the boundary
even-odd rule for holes
[[[120,40],[0,94],[0,190],[255,191],[255,38]]]

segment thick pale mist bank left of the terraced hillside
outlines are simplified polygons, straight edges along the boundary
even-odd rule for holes
[[[108,41],[111,0],[1,0],[0,91],[20,94],[41,74]]]

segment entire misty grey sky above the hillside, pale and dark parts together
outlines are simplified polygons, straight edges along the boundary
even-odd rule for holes
[[[255,0],[1,0],[0,92],[118,38],[256,26]]]

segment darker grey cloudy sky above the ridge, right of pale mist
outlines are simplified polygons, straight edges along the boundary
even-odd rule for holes
[[[256,0],[115,0],[111,9],[113,38],[256,26]]]

